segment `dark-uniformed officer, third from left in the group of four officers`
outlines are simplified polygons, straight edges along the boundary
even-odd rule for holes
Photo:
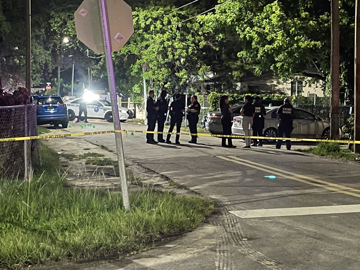
[[[174,130],[176,124],[176,132],[180,133],[181,122],[183,122],[185,106],[184,103],[180,100],[180,94],[175,95],[176,100],[171,102],[169,106],[170,111],[170,129],[168,132],[172,132]],[[170,141],[171,134],[167,134],[166,143],[171,143]],[[180,135],[176,134],[175,143],[180,144]]]

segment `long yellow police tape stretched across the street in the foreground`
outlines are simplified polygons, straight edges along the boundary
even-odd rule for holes
[[[37,135],[27,137],[15,137],[15,138],[1,138],[0,142],[4,141],[23,141],[23,140],[36,140],[36,139],[53,139],[53,138],[65,138],[73,136],[89,136],[98,134],[108,134],[114,132],[124,132],[127,136],[128,133],[152,133],[152,134],[172,134],[172,135],[193,135],[204,137],[216,137],[216,138],[233,138],[233,139],[270,139],[270,140],[291,140],[291,141],[312,141],[312,142],[325,142],[325,143],[348,143],[348,144],[360,144],[360,141],[352,140],[326,140],[326,139],[306,139],[306,138],[282,138],[282,137],[260,137],[260,136],[244,136],[244,135],[217,135],[217,134],[204,134],[204,133],[190,133],[190,132],[157,132],[157,131],[141,131],[141,130],[105,130],[105,131],[93,131],[93,132],[77,132],[77,133],[65,133],[57,135]]]

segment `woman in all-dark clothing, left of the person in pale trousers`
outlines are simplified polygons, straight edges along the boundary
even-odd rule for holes
[[[229,97],[227,95],[221,96],[219,100],[219,108],[221,111],[221,125],[223,135],[231,135],[231,113],[233,113],[233,109],[230,108],[228,103]],[[233,145],[231,137],[228,137],[228,145],[226,145],[226,137],[222,137],[221,146],[231,148],[236,147],[236,145]]]

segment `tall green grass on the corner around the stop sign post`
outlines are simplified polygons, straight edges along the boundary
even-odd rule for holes
[[[66,186],[57,154],[41,153],[42,174],[0,181],[0,269],[140,252],[215,210],[210,198],[145,189],[126,211],[121,193]]]

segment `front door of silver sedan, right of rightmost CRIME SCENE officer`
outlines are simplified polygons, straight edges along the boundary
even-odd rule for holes
[[[319,132],[317,117],[307,111],[294,109],[295,120],[297,121],[298,134],[300,138],[315,138]]]

